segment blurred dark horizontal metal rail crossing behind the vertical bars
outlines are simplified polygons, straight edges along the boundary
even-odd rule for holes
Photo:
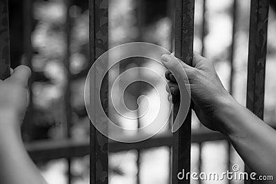
[[[193,130],[191,142],[203,143],[206,141],[225,140],[226,137],[219,133],[200,128]],[[139,143],[109,142],[109,152],[122,152],[127,150],[146,150],[152,147],[172,146],[172,133],[158,134],[151,139]],[[27,143],[26,149],[34,161],[49,161],[70,157],[81,157],[89,154],[89,140],[60,140],[60,141],[36,141]]]

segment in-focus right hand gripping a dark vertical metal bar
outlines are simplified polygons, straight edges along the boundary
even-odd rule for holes
[[[193,56],[193,67],[182,61],[179,64],[173,55],[164,54],[161,60],[170,71],[183,73],[183,69],[179,69],[179,65],[184,68],[189,83],[188,81],[183,81],[182,85],[186,85],[186,87],[189,85],[190,87],[191,97],[194,102],[193,110],[195,110],[199,121],[210,130],[224,132],[225,126],[219,121],[220,110],[225,109],[229,103],[235,103],[235,100],[225,90],[219,80],[213,63],[197,53]],[[167,89],[167,91],[172,94],[172,101],[174,102],[175,99],[179,99],[176,98],[179,95],[179,86],[175,76],[170,71],[165,74],[166,79],[170,81],[168,83],[169,90]],[[177,74],[181,75],[181,73]]]

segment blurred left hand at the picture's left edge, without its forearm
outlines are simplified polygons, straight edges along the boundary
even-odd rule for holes
[[[0,120],[1,124],[12,121],[20,122],[28,106],[28,79],[30,69],[20,65],[11,70],[11,76],[2,81],[0,80]],[[8,119],[8,120],[7,120]]]

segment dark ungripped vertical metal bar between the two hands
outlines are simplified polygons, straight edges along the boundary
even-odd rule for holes
[[[89,39],[90,62],[108,50],[108,0],[89,1]],[[105,85],[103,98],[108,98],[108,83]],[[107,86],[106,86],[107,85]],[[90,101],[95,92],[90,85]],[[103,100],[103,109],[108,114],[108,100]],[[108,138],[103,136],[90,123],[90,183],[108,184]]]

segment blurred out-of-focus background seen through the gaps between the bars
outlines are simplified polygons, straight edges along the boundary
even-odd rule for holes
[[[83,101],[84,83],[91,66],[88,1],[68,2],[9,1],[12,68],[20,63],[32,68],[31,103],[22,127],[23,140],[49,184],[89,183],[89,119]],[[246,105],[250,0],[195,2],[195,50],[214,61],[225,88],[239,103]],[[276,9],[273,3],[271,1],[268,23],[264,120],[276,127]],[[173,51],[174,6],[173,0],[109,0],[110,48],[132,41],[146,41]],[[160,74],[165,71],[153,61],[128,59],[120,63],[119,69],[114,68],[110,82],[112,77],[135,66],[146,66]],[[159,85],[155,76],[145,73],[133,73],[128,80],[139,74],[148,75]],[[141,83],[132,85],[124,96],[132,102],[130,109],[137,108],[137,96],[141,94],[155,99],[152,88]],[[167,99],[163,100],[162,105],[169,109]],[[146,125],[150,117],[131,122],[116,115],[113,118],[121,126],[130,128]],[[192,123],[195,132],[192,172],[222,173],[233,164],[244,170],[244,163],[222,136],[201,134],[203,127],[195,115]],[[171,139],[169,127],[159,132],[160,140]],[[112,147],[115,146],[113,143]],[[171,146],[164,143],[160,147],[140,148],[110,151],[111,184],[169,183]]]

